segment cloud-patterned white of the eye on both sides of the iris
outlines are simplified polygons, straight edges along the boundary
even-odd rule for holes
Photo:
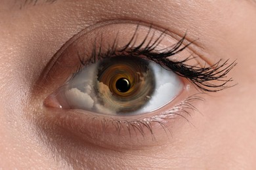
[[[160,109],[175,99],[184,87],[179,76],[173,71],[163,69],[158,63],[154,62],[150,62],[149,68],[152,69],[155,75],[155,89],[152,95],[149,96],[149,101],[141,109],[127,113],[127,115],[142,114]],[[95,90],[97,74],[98,63],[91,64],[68,82],[64,88],[68,108],[116,115],[118,113],[116,110],[107,108],[104,104],[98,102],[100,99],[98,99],[98,94],[95,93],[97,91]]]

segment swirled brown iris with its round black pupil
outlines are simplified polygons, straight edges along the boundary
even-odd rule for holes
[[[154,92],[155,78],[148,61],[137,57],[104,59],[98,65],[97,87],[104,107],[116,112],[134,112]]]

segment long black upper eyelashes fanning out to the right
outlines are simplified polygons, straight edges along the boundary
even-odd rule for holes
[[[110,58],[112,56],[144,56],[151,61],[154,61],[158,64],[160,64],[165,69],[169,69],[176,73],[179,76],[182,76],[186,79],[188,79],[192,84],[194,84],[199,90],[202,90],[204,92],[218,92],[220,90],[224,90],[226,88],[230,88],[234,85],[228,85],[228,82],[232,82],[232,78],[226,79],[226,74],[236,66],[236,61],[233,61],[232,63],[228,64],[228,59],[221,63],[221,59],[217,61],[217,63],[203,67],[199,67],[197,65],[188,65],[186,64],[186,61],[189,61],[190,59],[194,59],[195,57],[190,57],[183,59],[182,61],[171,61],[170,59],[167,59],[170,56],[174,56],[175,54],[178,54],[179,52],[182,52],[185,50],[190,44],[192,44],[194,41],[189,42],[188,44],[182,46],[184,43],[184,40],[186,39],[186,33],[184,36],[176,43],[168,48],[156,50],[158,47],[158,44],[161,43],[163,40],[165,33],[167,30],[162,31],[161,35],[154,41],[154,33],[152,37],[148,40],[148,37],[150,35],[150,32],[152,30],[152,25],[150,25],[150,29],[142,42],[140,42],[139,45],[135,46],[135,42],[137,42],[137,32],[139,29],[139,24],[137,25],[137,28],[135,29],[135,33],[131,37],[130,41],[123,46],[121,49],[117,49],[117,37],[114,40],[114,43],[110,48],[102,53],[102,46],[98,47],[98,50],[96,48],[96,41],[93,47],[93,52],[91,53],[90,59],[84,59],[83,57],[79,56],[79,60],[81,62],[81,67],[77,69],[75,74],[72,76],[74,77],[77,73],[79,73],[83,67],[89,65],[90,63],[96,63],[96,61],[104,58]],[[101,38],[102,39],[102,38]],[[146,45],[145,47],[142,47]],[[213,82],[215,81],[215,82]]]

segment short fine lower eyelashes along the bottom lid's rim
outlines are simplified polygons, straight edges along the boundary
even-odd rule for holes
[[[152,124],[155,123],[159,124],[162,127],[163,131],[165,131],[167,137],[169,137],[169,135],[171,135],[171,130],[165,124],[165,120],[181,117],[190,123],[190,120],[188,120],[187,116],[191,116],[190,112],[198,111],[198,109],[194,107],[193,103],[196,101],[204,101],[204,99],[200,97],[200,94],[202,93],[196,93],[194,95],[191,95],[178,105],[175,105],[173,109],[167,110],[151,118],[148,117],[138,120],[121,120],[110,118],[100,120],[102,124],[102,129],[104,131],[104,129],[106,128],[106,124],[111,124],[112,126],[116,127],[116,132],[118,134],[121,133],[122,130],[127,130],[130,137],[132,132],[139,132],[142,137],[146,137],[146,131],[149,131],[152,136],[152,140],[155,141],[156,137],[154,135],[154,129],[152,129]],[[98,121],[97,118],[98,116],[93,117],[92,121]]]

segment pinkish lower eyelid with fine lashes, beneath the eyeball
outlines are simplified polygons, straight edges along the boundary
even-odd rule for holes
[[[189,97],[188,93],[191,91],[193,90],[184,90],[175,101],[160,110],[138,116],[95,115],[84,110],[45,107],[42,119],[95,146],[116,150],[146,149],[156,144],[168,143],[172,133],[180,133],[175,126],[182,126],[187,122],[188,113],[195,109],[188,106],[196,105],[201,99],[198,95]]]

